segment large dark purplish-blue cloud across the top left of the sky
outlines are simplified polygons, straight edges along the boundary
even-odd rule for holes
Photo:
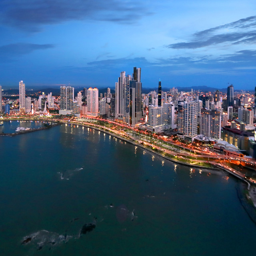
[[[133,23],[149,14],[133,0],[2,0],[0,22],[32,32],[44,24],[68,20],[101,20]]]

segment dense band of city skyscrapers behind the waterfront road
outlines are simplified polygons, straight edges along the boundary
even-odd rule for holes
[[[255,95],[256,97],[256,95]],[[120,73],[115,93],[110,88],[100,93],[98,88],[84,88],[74,94],[74,87],[60,86],[60,96],[42,92],[38,98],[26,96],[25,84],[19,82],[18,108],[10,109],[2,102],[0,86],[0,111],[6,114],[47,113],[58,111],[62,115],[101,116],[142,130],[162,133],[174,130],[180,140],[218,142],[223,140],[249,154],[254,141],[255,97],[249,93],[182,92],[171,88],[164,92],[159,80],[158,91],[142,93],[141,68],[133,68],[131,75]],[[12,102],[11,102],[12,103]],[[3,108],[4,106],[4,108]],[[223,146],[222,146],[223,147]]]

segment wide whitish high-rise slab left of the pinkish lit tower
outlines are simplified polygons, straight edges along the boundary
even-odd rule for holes
[[[74,110],[74,87],[60,86],[60,114]]]

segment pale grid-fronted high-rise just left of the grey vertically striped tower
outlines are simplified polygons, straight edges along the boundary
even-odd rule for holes
[[[198,103],[195,101],[184,102],[184,136],[188,140],[192,139],[198,134],[197,122]]]

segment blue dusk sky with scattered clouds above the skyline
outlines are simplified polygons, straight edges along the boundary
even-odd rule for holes
[[[255,0],[1,0],[3,88],[256,86]]]

